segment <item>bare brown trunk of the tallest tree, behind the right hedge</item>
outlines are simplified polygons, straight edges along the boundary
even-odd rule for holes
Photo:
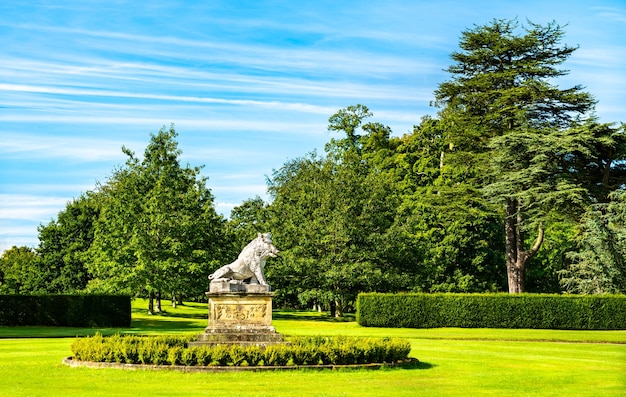
[[[524,275],[526,263],[539,251],[543,243],[544,230],[539,225],[535,244],[529,250],[524,250],[524,232],[522,230],[522,214],[519,210],[518,201],[507,199],[506,218],[504,220],[506,241],[506,273],[509,285],[509,293],[518,294],[524,292]]]

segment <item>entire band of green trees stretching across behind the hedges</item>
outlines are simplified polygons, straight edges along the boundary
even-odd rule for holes
[[[563,36],[516,20],[462,32],[436,116],[397,137],[367,106],[341,109],[323,154],[274,170],[270,201],[230,219],[163,128],[42,225],[39,247],[4,253],[0,292],[199,299],[212,270],[271,231],[282,306],[341,315],[366,291],[624,293],[626,131],[598,120],[582,86],[558,85],[576,50]]]

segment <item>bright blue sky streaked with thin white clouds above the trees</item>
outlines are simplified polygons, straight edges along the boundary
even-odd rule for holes
[[[626,1],[3,1],[0,252],[105,182],[125,145],[174,123],[217,209],[266,198],[266,176],[364,104],[396,135],[429,106],[461,31],[493,18],[567,24],[602,122],[626,122]]]

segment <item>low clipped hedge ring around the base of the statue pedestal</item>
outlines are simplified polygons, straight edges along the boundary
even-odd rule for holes
[[[395,363],[411,345],[398,338],[301,337],[289,344],[188,346],[196,337],[113,335],[77,338],[79,361],[187,366],[284,366]]]

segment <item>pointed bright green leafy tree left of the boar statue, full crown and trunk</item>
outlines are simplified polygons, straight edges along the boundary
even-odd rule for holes
[[[99,189],[92,287],[147,294],[150,312],[160,292],[201,295],[206,275],[228,256],[207,179],[181,166],[176,136],[173,127],[151,135],[142,159],[124,148],[125,166]]]

